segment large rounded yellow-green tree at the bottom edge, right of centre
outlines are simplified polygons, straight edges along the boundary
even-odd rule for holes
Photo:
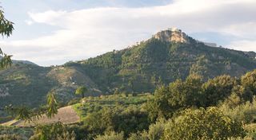
[[[223,115],[217,107],[207,110],[187,109],[166,124],[164,139],[166,140],[198,140],[198,139],[227,139],[244,137],[242,123]]]

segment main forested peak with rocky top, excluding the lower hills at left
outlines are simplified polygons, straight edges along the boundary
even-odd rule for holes
[[[66,64],[78,65],[102,91],[153,91],[161,82],[185,79],[190,72],[205,77],[241,76],[256,68],[256,53],[210,47],[181,30],[165,30],[130,48]]]

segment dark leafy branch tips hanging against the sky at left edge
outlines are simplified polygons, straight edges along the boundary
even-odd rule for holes
[[[3,10],[0,9],[0,34],[2,37],[10,37],[14,30],[13,24],[13,22],[8,21],[5,18]],[[0,48],[0,69],[6,68],[12,63],[10,57],[10,55],[2,52],[2,49]]]

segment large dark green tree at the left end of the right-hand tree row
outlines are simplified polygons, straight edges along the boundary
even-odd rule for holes
[[[146,103],[151,120],[171,118],[175,111],[188,107],[202,107],[202,77],[190,75],[185,81],[176,80],[169,86],[161,86],[154,91],[154,99]]]

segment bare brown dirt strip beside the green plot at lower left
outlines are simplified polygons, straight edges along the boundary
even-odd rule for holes
[[[46,115],[44,115],[41,119],[35,121],[40,124],[50,124],[54,122],[62,122],[65,124],[79,122],[80,118],[74,109],[71,106],[62,107],[58,109],[58,114],[54,115],[53,118],[48,119]],[[2,125],[5,126],[34,126],[33,122],[24,122],[24,121],[15,121],[12,120],[10,122],[5,122]]]

